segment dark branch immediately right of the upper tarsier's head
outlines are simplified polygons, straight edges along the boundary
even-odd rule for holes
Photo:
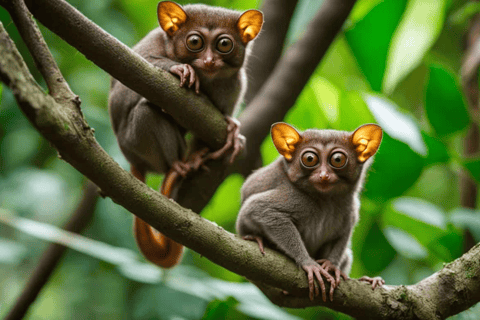
[[[282,54],[290,20],[298,0],[265,0],[262,12],[265,23],[253,43],[246,63],[248,88],[244,101],[248,105],[272,73]]]

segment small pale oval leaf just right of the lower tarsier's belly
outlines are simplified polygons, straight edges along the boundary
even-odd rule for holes
[[[427,249],[407,232],[387,227],[384,229],[384,234],[392,247],[402,256],[415,260],[423,260],[428,256]]]

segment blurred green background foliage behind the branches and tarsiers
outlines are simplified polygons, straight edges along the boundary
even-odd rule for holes
[[[69,2],[128,46],[157,25],[157,0]],[[261,5],[202,2],[239,10]],[[299,1],[287,46],[321,3]],[[459,71],[464,35],[479,11],[478,3],[465,0],[359,0],[285,118],[301,130],[353,130],[376,122],[385,131],[353,237],[354,278],[380,275],[387,284],[413,284],[462,254],[466,230],[480,241],[480,213],[461,207],[459,191],[464,169],[480,181],[480,158],[463,156],[466,132],[478,119],[467,106]],[[0,19],[44,86],[2,8]],[[107,113],[108,74],[41,29],[96,138],[128,169]],[[62,239],[75,250],[68,251],[27,319],[348,318],[324,308],[277,308],[242,277],[188,250],[180,267],[160,270],[139,254],[132,215],[110,199],[98,203],[87,238],[62,234],[55,226],[75,209],[84,178],[32,128],[9,90],[0,95],[0,318],[48,242]],[[269,137],[262,155],[264,164],[278,156]],[[153,188],[160,181],[148,179]],[[227,178],[202,215],[233,232],[242,182],[239,175]],[[478,319],[480,308],[456,318]]]

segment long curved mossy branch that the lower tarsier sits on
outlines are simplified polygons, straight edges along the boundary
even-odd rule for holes
[[[290,259],[268,249],[262,256],[256,244],[243,241],[169,201],[121,169],[97,144],[83,118],[65,112],[62,105],[34,82],[3,25],[0,25],[0,79],[12,89],[22,111],[63,159],[106,195],[214,263],[254,282],[289,291],[292,296],[277,300],[280,305],[324,305],[360,318],[368,313],[370,319],[438,319],[480,300],[480,245],[477,245],[417,285],[385,286],[372,291],[368,284],[348,280],[335,291],[333,303],[323,303],[320,299],[310,302],[306,299],[305,273]]]

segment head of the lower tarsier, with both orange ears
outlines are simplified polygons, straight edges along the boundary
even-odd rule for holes
[[[383,135],[376,124],[363,125],[354,132],[306,130],[300,134],[283,122],[275,123],[271,133],[286,160],[290,181],[305,191],[326,195],[354,190]]]

